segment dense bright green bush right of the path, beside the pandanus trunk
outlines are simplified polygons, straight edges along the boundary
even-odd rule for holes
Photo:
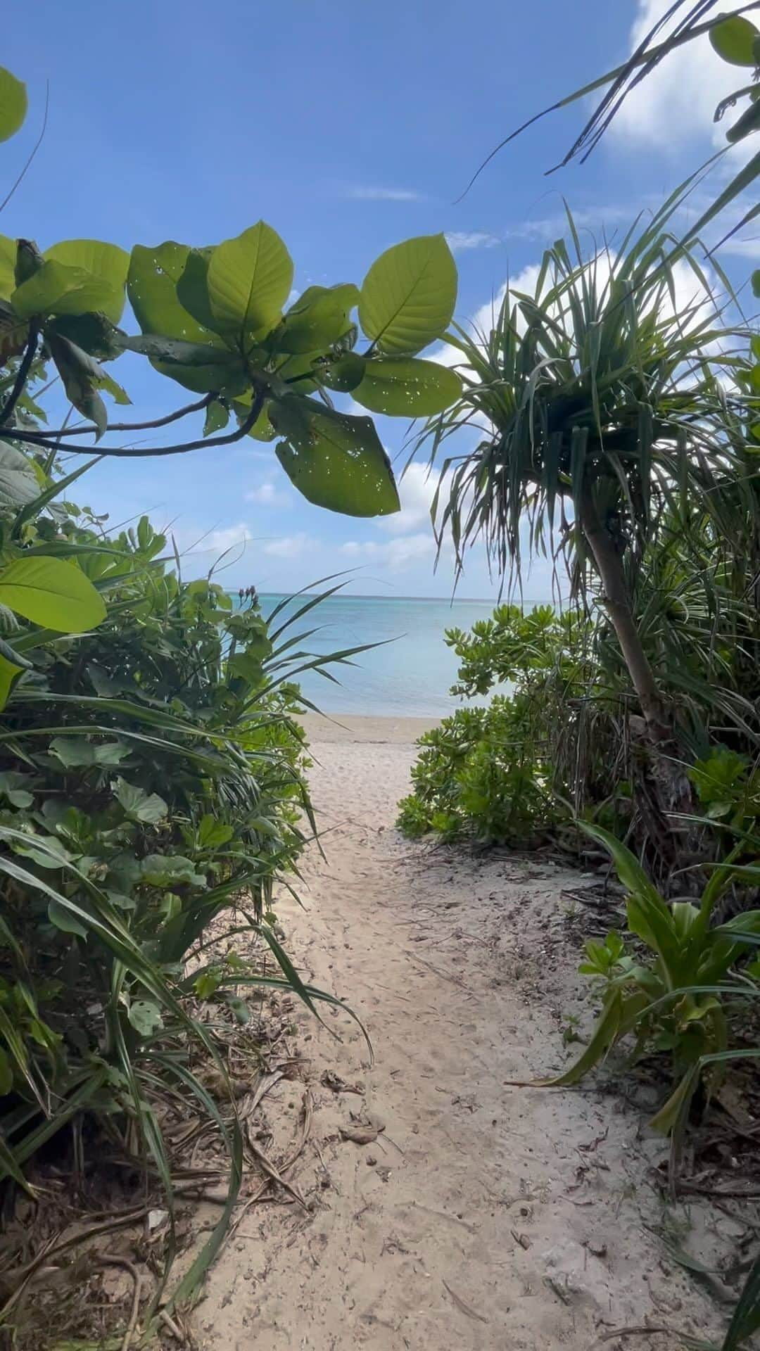
[[[583,616],[499,605],[471,634],[448,630],[445,642],[460,658],[452,694],[508,692],[487,707],[458,708],[421,736],[414,792],[399,805],[406,835],[534,847],[573,813],[625,817],[630,793],[614,773],[619,747],[610,712],[618,696],[594,670]]]

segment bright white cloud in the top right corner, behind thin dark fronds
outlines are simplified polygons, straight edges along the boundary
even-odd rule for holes
[[[630,30],[630,51],[663,18],[672,0],[638,0],[638,14]],[[676,20],[683,15],[679,11]],[[673,28],[665,24],[652,45]],[[737,66],[729,66],[713,51],[707,34],[669,53],[657,69],[626,96],[611,123],[611,131],[644,145],[676,150],[684,141],[711,136],[725,146],[725,123],[713,123],[715,105],[748,82]]]

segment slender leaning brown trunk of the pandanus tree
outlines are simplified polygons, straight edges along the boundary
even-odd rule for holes
[[[581,494],[580,526],[602,582],[604,608],[615,630],[632,685],[644,719],[645,755],[644,798],[648,801],[646,827],[665,869],[678,861],[679,850],[692,850],[694,842],[683,817],[694,812],[694,792],[683,767],[672,715],[657,685],[630,607],[622,558],[614,539],[599,519],[588,489]],[[632,731],[636,724],[629,720]],[[641,736],[637,738],[641,740]]]

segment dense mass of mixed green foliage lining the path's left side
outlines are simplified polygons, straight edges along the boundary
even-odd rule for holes
[[[241,1178],[224,1024],[247,1021],[254,986],[312,1011],[338,1004],[300,979],[272,913],[273,884],[292,888],[314,828],[293,677],[329,658],[299,634],[314,596],[265,619],[256,598],[233,608],[212,580],[183,582],[146,519],[108,538],[47,493],[23,509],[30,553],[37,539],[76,549],[110,607],[89,635],[14,634],[35,666],[0,731],[0,1177],[35,1196],[41,1147],[96,1123],[173,1215],[168,1104],[170,1119],[204,1119],[227,1152],[229,1197],[170,1306],[216,1252]],[[18,516],[5,511],[4,528]],[[172,1255],[173,1238],[166,1269]]]

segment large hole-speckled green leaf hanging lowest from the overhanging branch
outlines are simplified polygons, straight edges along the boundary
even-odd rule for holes
[[[277,459],[307,501],[346,516],[399,511],[391,461],[371,417],[349,417],[307,399],[273,400],[269,417],[284,438]]]

